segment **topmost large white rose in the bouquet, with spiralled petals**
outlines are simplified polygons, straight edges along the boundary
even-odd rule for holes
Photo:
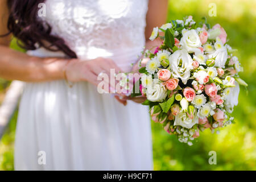
[[[196,33],[196,30],[192,29],[184,32],[182,38],[180,39],[180,45],[186,49],[188,53],[197,51],[197,48],[201,47],[201,41]]]

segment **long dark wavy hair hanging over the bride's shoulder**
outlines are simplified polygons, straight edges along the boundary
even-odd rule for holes
[[[35,50],[44,47],[49,51],[63,51],[65,55],[76,58],[65,41],[51,35],[51,26],[38,18],[38,5],[45,0],[8,0],[9,19],[7,28],[9,34],[13,34],[21,44],[19,46],[27,50]],[[50,43],[50,45],[46,45]],[[36,44],[39,46],[36,46]]]

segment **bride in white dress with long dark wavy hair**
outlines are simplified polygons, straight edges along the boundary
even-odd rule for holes
[[[97,77],[136,69],[166,11],[167,0],[0,2],[0,77],[26,82],[16,170],[152,169],[147,107],[98,93]],[[27,53],[9,48],[12,35]]]

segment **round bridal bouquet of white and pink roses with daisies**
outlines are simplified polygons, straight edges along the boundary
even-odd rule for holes
[[[155,27],[150,40],[158,37],[163,42],[154,53],[142,52],[150,60],[139,69],[139,93],[132,94],[146,96],[143,105],[150,106],[152,120],[189,145],[199,131],[218,133],[234,123],[239,84],[247,84],[238,75],[243,69],[232,54],[236,50],[226,43],[224,28],[189,16]]]

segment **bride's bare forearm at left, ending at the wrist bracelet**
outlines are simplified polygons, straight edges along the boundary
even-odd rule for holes
[[[0,77],[6,80],[40,82],[64,78],[68,60],[40,58],[0,46]]]

